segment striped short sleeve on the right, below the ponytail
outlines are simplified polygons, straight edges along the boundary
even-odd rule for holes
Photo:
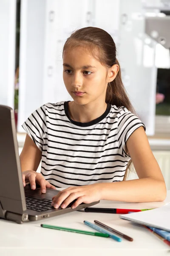
[[[122,108],[118,117],[118,143],[124,157],[130,157],[130,154],[126,154],[125,149],[128,138],[141,126],[146,131],[144,123],[137,116],[128,111],[127,108]]]

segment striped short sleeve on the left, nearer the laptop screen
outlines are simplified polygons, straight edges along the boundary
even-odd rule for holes
[[[22,127],[31,137],[37,147],[42,151],[43,138],[46,131],[46,114],[45,106],[41,106],[34,111],[23,123]]]

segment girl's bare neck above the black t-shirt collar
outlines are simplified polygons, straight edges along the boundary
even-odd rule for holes
[[[92,120],[102,116],[106,111],[107,103],[99,104],[96,108],[96,102],[86,105],[79,105],[76,102],[68,102],[68,111],[72,120],[76,122],[91,122]]]

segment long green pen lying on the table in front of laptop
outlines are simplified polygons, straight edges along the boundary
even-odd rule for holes
[[[74,232],[74,233],[81,233],[81,234],[85,234],[85,235],[109,237],[109,235],[106,233],[103,234],[103,233],[90,232],[90,231],[85,231],[85,230],[76,230],[76,229],[72,229],[72,228],[57,227],[57,226],[52,226],[52,225],[47,225],[47,224],[41,224],[41,227],[47,227],[47,228],[51,228],[51,229]]]

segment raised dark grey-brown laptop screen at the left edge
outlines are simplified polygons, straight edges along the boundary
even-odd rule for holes
[[[17,135],[12,108],[0,105],[0,204],[4,210],[26,210]]]

